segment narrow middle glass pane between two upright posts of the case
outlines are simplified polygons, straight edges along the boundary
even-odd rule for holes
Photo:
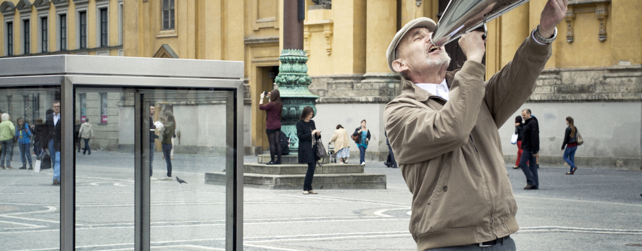
[[[76,248],[133,248],[134,94],[75,95]]]

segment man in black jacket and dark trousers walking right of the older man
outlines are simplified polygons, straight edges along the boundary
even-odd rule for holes
[[[539,152],[539,124],[537,119],[530,116],[530,109],[522,110],[524,127],[522,129],[522,157],[519,161],[519,168],[526,175],[526,186],[524,189],[539,189],[539,178],[537,177],[537,152]],[[528,164],[527,164],[528,162]]]

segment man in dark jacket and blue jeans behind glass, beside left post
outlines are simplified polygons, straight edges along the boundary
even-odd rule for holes
[[[54,100],[52,105],[53,113],[47,115],[44,125],[47,128],[49,143],[49,157],[53,165],[53,185],[60,186],[60,100]]]

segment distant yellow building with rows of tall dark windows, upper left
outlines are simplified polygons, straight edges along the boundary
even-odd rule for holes
[[[123,55],[123,0],[6,0],[0,55]]]

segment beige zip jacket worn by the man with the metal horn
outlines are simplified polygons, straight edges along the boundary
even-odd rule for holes
[[[403,81],[384,110],[388,139],[413,194],[410,233],[417,250],[470,245],[519,229],[498,128],[535,90],[551,46],[531,37],[484,82],[466,61],[446,74],[450,100]]]

